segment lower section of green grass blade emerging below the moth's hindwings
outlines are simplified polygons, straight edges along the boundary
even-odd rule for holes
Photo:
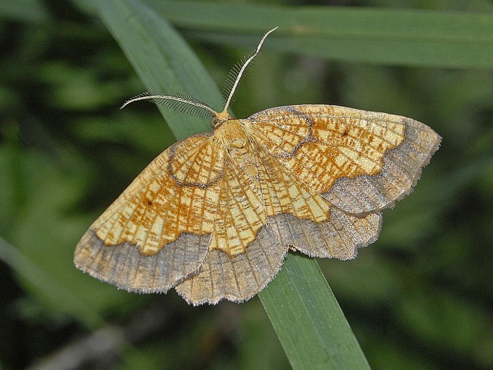
[[[289,254],[259,297],[293,369],[370,369],[315,259]]]

